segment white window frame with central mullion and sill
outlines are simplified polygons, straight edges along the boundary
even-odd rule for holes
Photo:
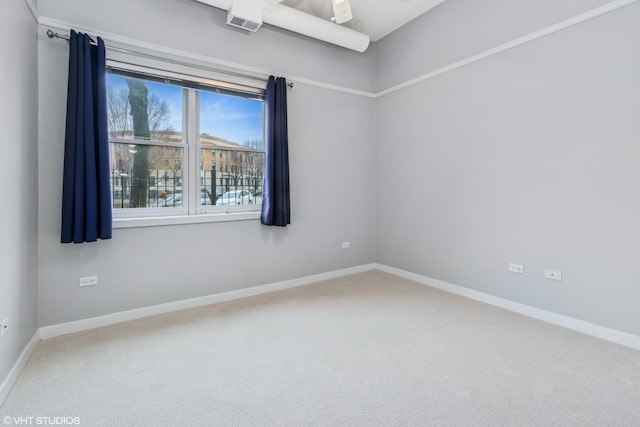
[[[228,90],[238,90],[247,92],[250,88],[256,96],[264,96],[264,86],[256,84],[257,79],[239,77],[232,74],[225,74],[218,71],[207,70],[206,68],[194,66],[188,67],[183,63],[164,62],[145,57],[132,58],[131,53],[112,52],[107,58],[107,67],[127,70],[133,73],[150,76],[153,78],[166,77],[169,79],[180,79],[190,83],[199,83],[205,87],[222,87]],[[117,74],[117,73],[116,73]],[[188,77],[188,79],[187,79]],[[216,206],[201,205],[201,149],[199,130],[199,105],[198,89],[183,88],[183,135],[182,143],[168,143],[165,141],[144,140],[137,141],[131,139],[110,138],[110,142],[126,144],[145,144],[151,146],[170,146],[182,148],[182,191],[186,195],[187,203],[180,207],[157,207],[157,208],[127,208],[113,209],[114,228],[130,228],[145,226],[177,225],[219,221],[256,220],[260,218],[262,205],[237,205],[237,206]],[[264,106],[263,106],[264,118]],[[264,129],[263,129],[264,138]],[[216,152],[221,149],[216,149]],[[228,156],[228,153],[227,153]],[[217,162],[219,165],[222,163]],[[215,195],[213,195],[215,197]]]

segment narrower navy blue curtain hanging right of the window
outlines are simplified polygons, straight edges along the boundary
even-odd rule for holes
[[[264,189],[262,223],[291,224],[289,201],[289,137],[287,134],[287,81],[269,77],[267,82]]]

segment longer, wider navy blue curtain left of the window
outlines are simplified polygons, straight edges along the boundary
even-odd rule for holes
[[[62,243],[110,239],[105,47],[71,31],[62,185]]]

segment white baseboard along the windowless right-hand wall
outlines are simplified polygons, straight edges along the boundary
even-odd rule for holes
[[[485,294],[484,292],[474,291],[473,289],[464,288],[462,286],[453,285],[441,280],[421,276],[419,274],[411,273],[399,268],[377,264],[376,269],[393,274],[394,276],[402,277],[423,285],[430,286],[432,288],[440,289],[445,292],[500,307],[514,313],[542,320],[544,322],[551,323],[557,326],[562,326],[563,328],[581,332],[586,335],[591,335],[593,337],[600,338],[615,344],[620,344],[625,347],[633,348],[635,350],[640,350],[640,337],[637,335],[632,335],[615,329],[606,328],[604,326],[595,325],[593,323],[585,322],[584,320],[579,320],[573,317],[542,310],[540,308],[532,307],[526,304],[521,304],[504,298]]]

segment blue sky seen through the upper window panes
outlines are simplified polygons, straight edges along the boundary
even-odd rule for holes
[[[124,77],[107,74],[107,86],[116,93],[127,91]],[[168,125],[182,130],[182,88],[147,82],[149,94],[155,94],[169,104],[171,117]],[[200,133],[226,139],[239,144],[262,140],[263,103],[247,98],[200,92]]]

